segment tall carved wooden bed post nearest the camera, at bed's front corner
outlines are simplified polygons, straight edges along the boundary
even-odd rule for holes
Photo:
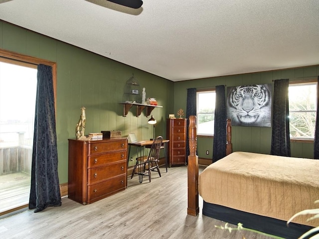
[[[198,156],[197,133],[196,133],[196,116],[189,117],[188,127],[189,156],[187,166],[187,184],[188,184],[188,207],[187,214],[197,216],[199,214],[198,206]]]

